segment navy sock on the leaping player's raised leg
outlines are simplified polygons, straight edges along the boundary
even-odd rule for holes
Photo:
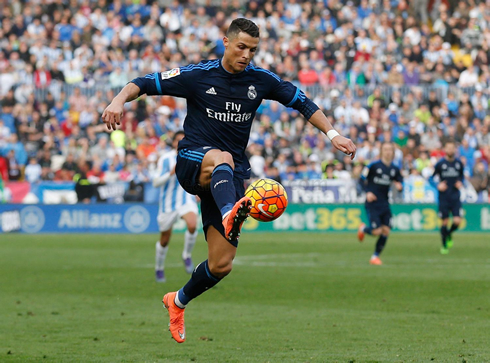
[[[230,164],[223,163],[214,168],[210,187],[221,215],[231,211],[235,205],[236,192],[235,184],[233,184],[233,169]]]

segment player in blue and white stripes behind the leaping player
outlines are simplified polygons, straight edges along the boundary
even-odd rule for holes
[[[187,193],[180,186],[175,176],[177,162],[177,145],[184,137],[184,131],[177,131],[172,139],[172,150],[158,159],[157,176],[153,179],[153,186],[160,187],[160,202],[158,208],[158,228],[160,240],[156,243],[155,278],[157,282],[165,282],[164,264],[167,256],[168,243],[172,234],[172,226],[182,218],[186,225],[184,251],[182,260],[185,271],[190,274],[194,270],[192,263],[192,249],[197,237],[197,204],[196,197]]]

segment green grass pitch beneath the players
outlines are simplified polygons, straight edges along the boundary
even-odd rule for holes
[[[1,362],[490,362],[490,238],[245,233],[232,274],[186,311],[183,235],[154,282],[156,235],[0,236]],[[196,262],[205,259],[202,234]]]

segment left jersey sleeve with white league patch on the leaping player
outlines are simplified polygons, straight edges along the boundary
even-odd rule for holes
[[[182,72],[180,68],[170,71],[149,73],[131,81],[140,88],[139,95],[175,96],[187,98],[192,95],[192,72]]]

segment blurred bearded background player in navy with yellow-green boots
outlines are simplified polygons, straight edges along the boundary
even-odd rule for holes
[[[461,223],[461,193],[463,187],[463,163],[455,157],[456,145],[454,141],[447,141],[444,145],[446,157],[439,160],[434,168],[434,174],[430,178],[432,185],[439,191],[439,218],[442,219],[441,238],[443,255],[449,253],[453,246],[453,232]],[[436,179],[439,183],[436,184]],[[448,229],[449,214],[453,217],[451,228]]]

